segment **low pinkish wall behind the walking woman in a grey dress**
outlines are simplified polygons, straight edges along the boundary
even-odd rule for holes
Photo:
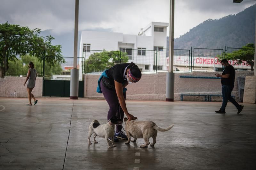
[[[23,85],[26,77],[4,77],[0,78],[0,97],[11,97],[11,93],[16,91],[17,97],[28,97],[27,85]],[[43,78],[36,78],[36,86],[32,93],[35,97],[42,97]]]

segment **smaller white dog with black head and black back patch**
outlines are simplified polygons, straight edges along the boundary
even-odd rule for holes
[[[94,133],[94,143],[98,143],[96,142],[95,138],[96,136],[99,137],[103,137],[107,140],[108,143],[108,148],[111,148],[110,146],[110,141],[108,140],[108,138],[111,138],[111,142],[112,142],[112,146],[115,147],[116,145],[113,144],[114,142],[114,134],[115,134],[115,125],[116,124],[121,124],[122,120],[118,119],[117,117],[112,117],[111,119],[108,120],[108,123],[106,124],[100,124],[99,121],[97,120],[93,120],[89,126],[89,131],[88,131],[88,142],[89,144],[91,143],[91,136],[92,133]]]

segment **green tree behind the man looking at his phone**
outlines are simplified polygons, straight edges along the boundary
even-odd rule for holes
[[[254,48],[254,44],[248,43],[241,49],[233,51],[232,53],[228,53],[227,59],[236,61],[235,64],[249,64],[251,66],[251,70],[253,70]]]

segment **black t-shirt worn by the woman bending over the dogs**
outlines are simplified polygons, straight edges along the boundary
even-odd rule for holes
[[[110,80],[116,80],[118,83],[124,83],[124,69],[129,66],[130,63],[116,64],[106,71],[106,74]],[[128,68],[128,67],[127,67]]]

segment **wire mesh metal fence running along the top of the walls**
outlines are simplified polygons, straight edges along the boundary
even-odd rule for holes
[[[250,51],[253,50],[253,51]],[[254,49],[248,48],[192,48],[174,49],[173,68],[174,71],[222,71],[220,61],[227,58],[229,63],[237,70],[253,70],[254,58],[246,55],[247,58],[232,60],[230,57],[235,52],[250,52]],[[132,49],[121,48],[117,51],[106,50],[85,50],[82,57],[77,58],[77,69],[79,69],[79,80],[83,80],[84,73],[99,73],[118,63],[134,62],[142,72],[166,72],[168,70],[169,49],[159,48],[158,50],[146,50],[145,48]],[[28,62],[35,64],[38,76],[44,79],[70,80],[70,70],[73,68],[73,57],[63,57],[65,63],[55,63],[51,66],[47,62],[38,61],[33,56],[21,56],[16,61],[8,61],[5,76],[26,76]],[[251,62],[251,63],[250,63]],[[3,66],[2,66],[3,67]]]

